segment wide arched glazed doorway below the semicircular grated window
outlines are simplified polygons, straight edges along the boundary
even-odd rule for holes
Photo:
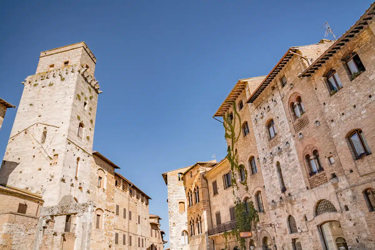
[[[326,250],[336,250],[340,247],[348,249],[344,232],[342,232],[340,222],[331,220],[320,225],[320,231],[323,236]]]

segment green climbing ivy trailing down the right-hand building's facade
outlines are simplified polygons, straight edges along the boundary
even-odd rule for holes
[[[227,149],[227,158],[228,162],[231,165],[231,171],[232,171],[232,184],[237,189],[238,184],[236,181],[236,178],[234,177],[235,172],[239,172],[241,169],[241,165],[238,163],[238,153],[237,149],[235,149],[235,146],[240,138],[240,135],[242,133],[241,128],[241,117],[236,109],[236,103],[232,103],[232,109],[233,109],[233,118],[231,118],[231,114],[229,114],[229,111],[226,115],[224,115],[224,129],[225,129],[225,139],[228,144]],[[237,129],[236,124],[239,123],[240,126]],[[246,168],[243,168],[245,172],[245,180],[241,181],[240,183],[243,186],[246,186],[246,191],[249,190],[247,179],[248,179],[248,172],[246,171]],[[234,207],[234,217],[236,219],[236,227],[232,229],[231,231],[224,232],[225,237],[225,249],[227,249],[228,245],[228,238],[234,238],[236,240],[236,243],[240,245],[241,250],[246,250],[246,241],[245,238],[240,238],[240,232],[249,232],[252,230],[255,230],[255,226],[257,225],[257,222],[259,221],[258,212],[254,208],[254,204],[252,201],[249,201],[249,212],[246,212],[245,204],[240,201],[240,199],[236,196],[233,188],[233,195],[235,198],[235,207]]]

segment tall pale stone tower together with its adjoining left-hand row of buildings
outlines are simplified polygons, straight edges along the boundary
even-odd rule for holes
[[[81,42],[39,58],[1,163],[0,249],[147,249],[150,197],[92,150],[95,56]]]

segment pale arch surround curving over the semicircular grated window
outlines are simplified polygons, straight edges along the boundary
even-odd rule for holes
[[[338,212],[342,211],[336,197],[336,192],[334,190],[319,187],[314,190],[314,192],[311,192],[309,194],[308,216],[310,219],[313,219],[316,215],[315,210],[317,208],[318,202],[324,199],[330,201],[335,206]]]

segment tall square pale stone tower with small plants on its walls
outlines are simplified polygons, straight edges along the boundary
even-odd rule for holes
[[[28,76],[0,183],[43,196],[43,207],[87,202],[98,82],[86,43],[43,51]]]

